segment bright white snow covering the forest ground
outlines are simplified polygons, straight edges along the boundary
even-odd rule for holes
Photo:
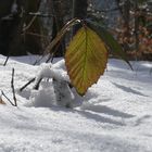
[[[16,91],[41,66],[36,56],[0,55],[0,90],[13,101]],[[107,69],[74,109],[54,105],[53,88],[43,81],[16,93],[18,106],[0,104],[0,152],[152,152],[152,63],[110,60]],[[56,63],[56,66],[60,65]],[[59,67],[60,68],[60,67]],[[75,104],[76,105],[76,104]]]

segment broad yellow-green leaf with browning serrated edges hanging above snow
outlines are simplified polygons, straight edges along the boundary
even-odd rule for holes
[[[101,38],[89,27],[81,27],[71,41],[65,64],[73,86],[84,96],[104,73],[107,50]]]

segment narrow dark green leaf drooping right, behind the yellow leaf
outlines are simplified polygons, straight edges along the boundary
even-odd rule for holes
[[[111,53],[114,56],[124,60],[132,69],[132,66],[127,59],[127,54],[122,49],[117,40],[115,40],[115,38],[104,27],[100,26],[97,22],[87,21],[87,23],[88,26],[94,31],[97,31],[100,38],[106,43],[106,46],[110,48]]]

